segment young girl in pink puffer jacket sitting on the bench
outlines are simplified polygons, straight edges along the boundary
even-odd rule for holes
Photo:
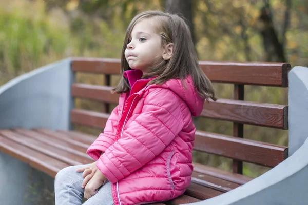
[[[143,12],[128,26],[119,105],[87,150],[95,162],[61,170],[55,203],[146,204],[185,192],[195,126],[214,89],[201,71],[188,26],[177,15]]]

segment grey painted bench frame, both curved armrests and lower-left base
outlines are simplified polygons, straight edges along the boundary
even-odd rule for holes
[[[44,127],[70,130],[70,110],[73,107],[71,84],[72,58],[44,66],[21,75],[0,87],[0,129]],[[260,177],[220,196],[196,204],[305,204],[308,195],[308,68],[294,67],[289,73],[289,158]],[[44,120],[42,120],[44,119]],[[29,167],[8,161],[0,153],[0,201],[14,196],[18,190],[8,175],[27,183]],[[25,167],[26,166],[26,167]],[[16,171],[16,173],[15,173]],[[5,197],[4,197],[5,196]],[[14,198],[11,204],[22,204]],[[23,203],[25,204],[25,203]]]

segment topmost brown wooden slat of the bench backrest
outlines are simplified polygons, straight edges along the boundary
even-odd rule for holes
[[[291,70],[287,63],[200,61],[199,64],[213,82],[245,85],[288,87],[287,73]],[[72,61],[73,71],[119,74],[120,68],[120,59],[74,58]]]

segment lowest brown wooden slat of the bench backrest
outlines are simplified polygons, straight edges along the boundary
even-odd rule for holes
[[[108,117],[104,113],[72,110],[71,120],[103,129]],[[284,146],[202,131],[196,132],[194,149],[266,167],[275,167],[287,157]]]

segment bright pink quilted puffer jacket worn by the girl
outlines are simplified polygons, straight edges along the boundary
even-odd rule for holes
[[[190,185],[192,147],[203,102],[192,79],[134,83],[122,94],[104,133],[87,150],[112,184],[115,205],[167,201]],[[104,154],[100,157],[101,153]]]

